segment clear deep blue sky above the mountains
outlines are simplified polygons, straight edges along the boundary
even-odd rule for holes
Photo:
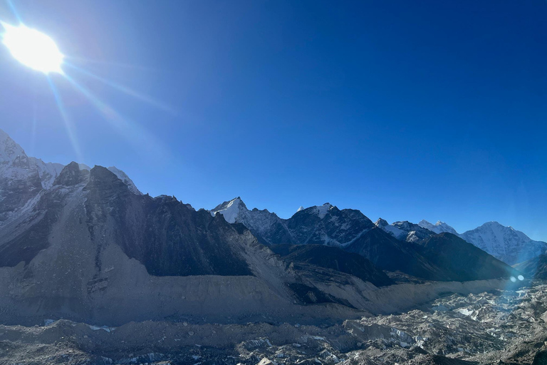
[[[13,4],[71,64],[157,101],[66,66],[105,116],[53,75],[78,157],[46,77],[2,46],[0,128],[30,155],[194,207],[331,202],[547,240],[546,1]]]

